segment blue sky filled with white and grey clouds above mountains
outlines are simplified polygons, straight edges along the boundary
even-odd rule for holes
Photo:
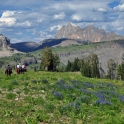
[[[54,38],[69,22],[124,35],[124,0],[0,0],[0,34],[11,43]]]

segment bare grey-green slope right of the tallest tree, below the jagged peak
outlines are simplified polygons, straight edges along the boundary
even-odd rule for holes
[[[52,47],[53,52],[59,54],[61,62],[73,61],[75,58],[85,59],[91,53],[98,55],[104,71],[107,71],[107,61],[113,59],[116,63],[121,63],[124,56],[124,40],[98,42],[82,45],[71,45],[66,47]],[[33,52],[32,52],[33,53]],[[35,53],[35,52],[34,52]]]

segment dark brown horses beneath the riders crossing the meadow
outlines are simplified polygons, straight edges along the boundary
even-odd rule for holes
[[[16,71],[17,74],[21,74],[21,73],[24,74],[26,72],[26,68],[16,68],[15,71]],[[7,76],[9,76],[9,75],[11,76],[12,73],[13,73],[12,68],[8,68],[8,69],[5,70],[5,74]]]

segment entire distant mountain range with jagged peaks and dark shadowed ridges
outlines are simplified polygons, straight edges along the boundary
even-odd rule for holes
[[[122,39],[124,39],[124,36],[117,35],[114,32],[105,32],[104,29],[99,29],[93,25],[86,26],[82,29],[69,22],[57,31],[54,38],[45,39],[39,43],[34,41],[10,43],[10,39],[0,34],[0,49],[13,49],[13,51],[31,52],[42,49],[45,46],[68,46]]]

